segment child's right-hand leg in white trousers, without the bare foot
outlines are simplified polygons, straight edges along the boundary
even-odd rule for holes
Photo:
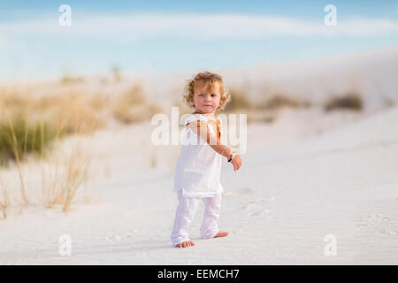
[[[202,238],[214,238],[219,232],[218,217],[221,210],[221,194],[203,197],[204,214],[201,226]]]

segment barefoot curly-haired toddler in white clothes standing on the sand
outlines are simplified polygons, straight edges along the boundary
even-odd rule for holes
[[[173,189],[179,204],[171,239],[173,246],[179,248],[195,246],[189,240],[188,226],[201,199],[204,204],[202,238],[228,234],[218,229],[224,191],[219,182],[222,157],[233,164],[233,171],[241,167],[241,157],[221,142],[222,124],[216,111],[224,109],[229,100],[222,78],[216,73],[198,73],[188,81],[187,90],[184,98],[189,106],[195,107],[195,112],[185,121],[185,141],[175,166]]]

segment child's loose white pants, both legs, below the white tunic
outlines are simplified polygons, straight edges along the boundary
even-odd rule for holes
[[[175,212],[174,226],[172,227],[172,244],[178,245],[183,241],[189,241],[189,223],[195,216],[198,204],[203,200],[204,214],[201,226],[203,239],[214,238],[219,232],[218,217],[221,210],[221,194],[213,197],[185,197],[182,189],[177,191],[179,205]]]

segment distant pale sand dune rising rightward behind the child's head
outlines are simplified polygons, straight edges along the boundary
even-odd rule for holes
[[[196,70],[201,72],[203,70]],[[285,94],[322,104],[329,96],[356,92],[365,110],[374,111],[398,100],[398,49],[364,50],[287,62],[260,62],[244,68],[208,70],[223,75],[229,89],[240,88],[255,102],[264,96]],[[149,99],[171,104],[182,99],[184,81],[195,72],[134,75]],[[180,97],[180,98],[179,98]]]

